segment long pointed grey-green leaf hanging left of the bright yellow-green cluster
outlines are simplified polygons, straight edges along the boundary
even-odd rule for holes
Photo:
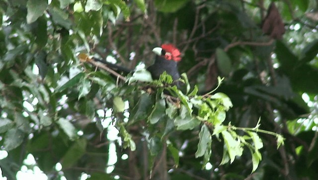
[[[195,157],[201,157],[203,156],[206,151],[211,150],[211,143],[212,143],[212,138],[211,138],[211,133],[209,131],[209,128],[203,124],[201,127],[201,130],[199,132],[199,143],[198,143],[198,150],[195,152]]]

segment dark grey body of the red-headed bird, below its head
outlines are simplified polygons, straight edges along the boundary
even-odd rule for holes
[[[164,71],[170,74],[175,81],[180,78],[177,62],[174,60],[166,60],[160,56],[156,56],[155,63],[149,66],[147,70],[152,74],[153,79],[159,79]]]

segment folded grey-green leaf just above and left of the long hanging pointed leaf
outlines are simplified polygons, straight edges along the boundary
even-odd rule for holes
[[[177,126],[177,130],[193,129],[200,123],[200,120],[191,117],[184,105],[181,106],[180,115],[174,119],[174,125]]]

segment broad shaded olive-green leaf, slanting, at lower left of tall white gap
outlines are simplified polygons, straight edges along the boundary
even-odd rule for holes
[[[63,168],[69,168],[76,164],[78,160],[85,154],[86,146],[87,140],[85,138],[80,138],[75,141],[62,158]]]

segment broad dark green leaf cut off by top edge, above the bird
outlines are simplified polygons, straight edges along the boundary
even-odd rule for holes
[[[155,5],[159,11],[175,12],[182,8],[188,0],[155,0]]]

